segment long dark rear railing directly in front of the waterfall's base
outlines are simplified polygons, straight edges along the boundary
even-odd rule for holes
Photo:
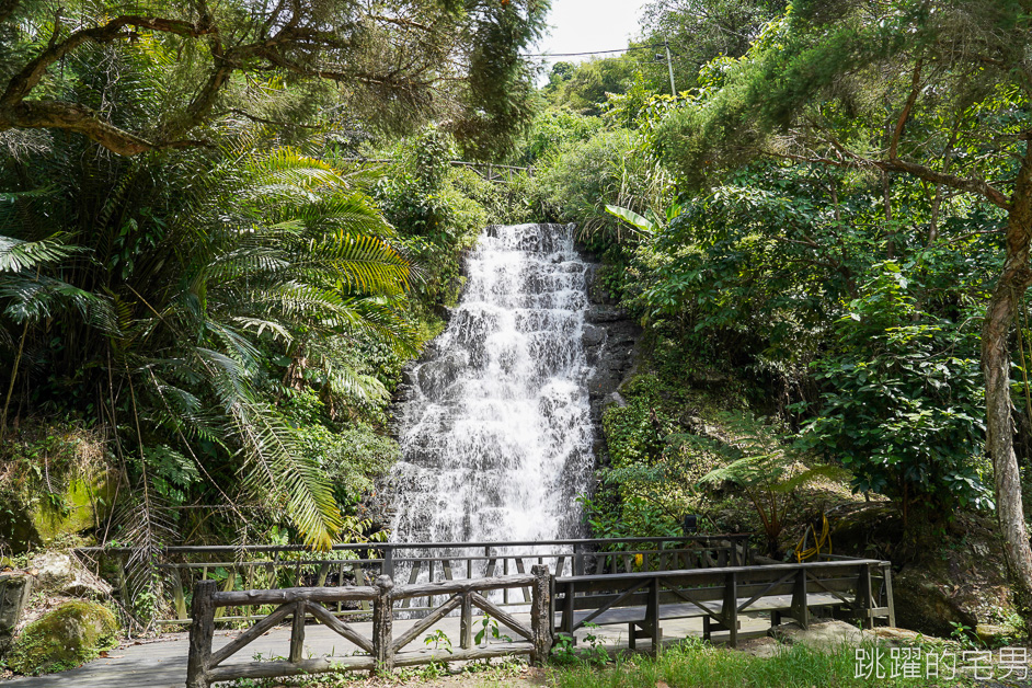
[[[161,624],[188,624],[188,590],[199,581],[217,581],[221,592],[254,588],[368,586],[380,575],[414,585],[521,575],[532,564],[548,564],[557,575],[667,571],[742,565],[752,562],[748,535],[690,536],[679,538],[572,539],[514,542],[343,543],[317,553],[295,546],[168,547],[156,564],[168,595],[172,616]],[[77,550],[92,569],[107,572],[123,599],[131,601],[125,569],[129,548]],[[503,588],[497,604],[529,604],[529,590]],[[413,615],[436,608],[431,596],[405,598],[403,609]],[[368,615],[368,599],[341,599],[332,612],[341,618]],[[267,605],[251,603],[219,607],[220,622],[255,621]]]

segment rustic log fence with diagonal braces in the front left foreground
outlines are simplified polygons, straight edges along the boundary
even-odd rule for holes
[[[530,626],[527,627],[488,599],[498,589],[529,587],[531,594]],[[385,670],[395,666],[413,666],[431,662],[485,660],[496,656],[529,654],[531,663],[548,657],[552,645],[550,610],[550,576],[547,566],[535,565],[529,575],[467,581],[446,581],[395,587],[390,576],[379,576],[374,585],[344,587],[298,587],[275,590],[220,592],[214,581],[200,581],[194,587],[190,629],[187,688],[207,688],[215,681],[238,678],[272,678],[325,672]],[[399,635],[393,633],[394,604],[413,597],[439,597],[445,601],[428,616]],[[337,618],[328,605],[342,601],[366,601],[372,610],[372,637],[362,635],[354,627]],[[228,644],[213,647],[216,612],[227,607],[275,605],[275,609]],[[473,608],[479,608],[505,624],[520,638],[515,642],[473,645]],[[460,610],[460,647],[451,651],[405,647],[455,610]],[[303,656],[308,617],[324,624],[358,647],[358,653],[342,657]],[[289,654],[285,660],[223,664],[248,644],[275,626],[291,619]]]

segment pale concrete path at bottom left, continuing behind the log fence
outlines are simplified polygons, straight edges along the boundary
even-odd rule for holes
[[[530,623],[530,615],[517,614],[515,616],[519,621]],[[762,631],[769,627],[766,616],[756,619],[742,616],[739,619],[742,620],[741,632]],[[414,620],[395,620],[394,635],[401,634],[414,623]],[[473,624],[474,630],[480,629],[475,617]],[[371,623],[363,622],[352,626],[366,638],[371,635]],[[451,642],[458,645],[458,617],[446,617],[433,629],[443,630]],[[427,631],[427,634],[433,632],[433,629]],[[500,630],[502,633],[506,632],[504,626]],[[238,633],[240,631],[217,632],[214,646],[225,645]],[[627,647],[627,627],[605,626],[590,631],[581,630],[577,632],[578,646],[586,645],[584,637],[588,633],[596,635],[596,642],[600,642],[609,650]],[[664,640],[701,634],[701,619],[677,619],[663,622]],[[714,633],[714,639],[719,639],[720,635],[720,633]],[[277,628],[227,660],[225,665],[254,662],[256,658],[282,657],[288,653],[289,646],[290,629]],[[649,641],[639,641],[639,646],[647,647]],[[425,647],[423,639],[418,639],[413,641],[408,649],[422,647]],[[309,624],[305,634],[305,650],[306,654],[312,657],[347,656],[356,652],[357,647],[323,626]],[[184,688],[187,654],[186,633],[170,633],[162,640],[117,647],[112,650],[107,657],[69,672],[0,680],[0,688]]]

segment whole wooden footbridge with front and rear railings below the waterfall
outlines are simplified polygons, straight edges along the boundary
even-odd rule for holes
[[[755,565],[747,542],[748,536],[733,535],[365,543],[318,555],[296,547],[168,548],[158,570],[175,609],[163,621],[190,626],[191,688],[233,678],[511,654],[541,662],[557,634],[572,637],[589,623],[626,626],[632,649],[650,639],[655,651],[662,646],[663,622],[673,619],[701,619],[707,638],[720,632],[732,645],[739,638],[739,619],[758,614],[771,624],[790,617],[805,627],[813,615],[832,611],[864,626],[879,618],[894,623],[888,562],[838,557]],[[99,567],[108,560],[110,570],[111,559],[121,563],[131,550],[88,548],[80,555],[93,558]],[[124,583],[119,587],[127,596]],[[443,649],[410,647],[454,614],[460,619],[457,649],[450,640]],[[496,638],[474,644],[478,616],[484,631],[494,620]],[[371,626],[362,624],[365,634],[355,617],[371,619]],[[410,619],[398,634],[397,618]],[[291,632],[283,658],[227,662],[288,619]],[[354,654],[305,657],[309,619],[353,644]],[[217,627],[242,621],[253,626],[214,646]]]

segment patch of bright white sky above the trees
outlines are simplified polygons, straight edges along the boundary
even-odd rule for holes
[[[639,14],[647,0],[552,0],[551,35],[537,53],[587,53],[626,48],[628,38],[641,32]],[[587,57],[559,58],[571,62]],[[551,69],[552,62],[547,65]]]

